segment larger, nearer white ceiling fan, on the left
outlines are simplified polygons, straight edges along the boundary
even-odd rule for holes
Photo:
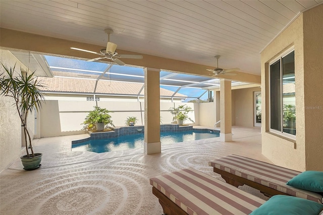
[[[96,55],[102,56],[102,57],[88,60],[88,62],[98,61],[98,60],[106,58],[106,59],[112,60],[113,62],[117,63],[120,66],[123,66],[123,65],[125,65],[125,63],[122,62],[121,60],[119,60],[119,58],[142,59],[141,55],[119,55],[118,52],[116,51],[117,44],[110,42],[110,34],[113,33],[113,30],[112,29],[105,29],[104,32],[107,34],[107,44],[106,44],[106,48],[102,48],[99,52],[89,51],[89,50],[75,48],[75,47],[71,47],[71,49],[85,51],[85,52],[89,52],[89,53],[95,53]]]

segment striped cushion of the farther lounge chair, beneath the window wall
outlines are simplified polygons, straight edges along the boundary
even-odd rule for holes
[[[323,200],[323,196],[318,193],[286,185],[286,182],[301,173],[299,171],[290,170],[235,154],[211,160],[208,165],[288,195],[313,200],[319,203],[322,203]]]

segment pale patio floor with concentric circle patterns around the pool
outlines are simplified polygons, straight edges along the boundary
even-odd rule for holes
[[[211,138],[162,146],[145,155],[143,148],[94,153],[71,151],[71,141],[87,134],[35,139],[43,153],[38,170],[16,162],[0,174],[0,214],[163,214],[149,178],[192,167],[224,181],[208,161],[239,154],[271,163],[261,154],[260,128],[233,127],[233,141]],[[242,190],[263,199],[246,185]]]

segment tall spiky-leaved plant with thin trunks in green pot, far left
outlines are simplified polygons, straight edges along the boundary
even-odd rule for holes
[[[42,153],[34,153],[30,133],[27,128],[27,117],[33,110],[39,111],[44,101],[39,88],[43,87],[34,73],[28,75],[28,71],[20,69],[18,76],[15,75],[15,67],[8,68],[1,63],[5,72],[0,74],[0,95],[10,96],[15,100],[15,106],[24,132],[26,155],[21,156],[21,162],[25,170],[34,170],[40,167]],[[30,153],[29,149],[30,148]]]

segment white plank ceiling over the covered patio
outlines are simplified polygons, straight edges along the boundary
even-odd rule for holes
[[[259,52],[297,15],[323,0],[1,0],[2,28],[260,74]],[[98,51],[98,50],[94,50]]]

